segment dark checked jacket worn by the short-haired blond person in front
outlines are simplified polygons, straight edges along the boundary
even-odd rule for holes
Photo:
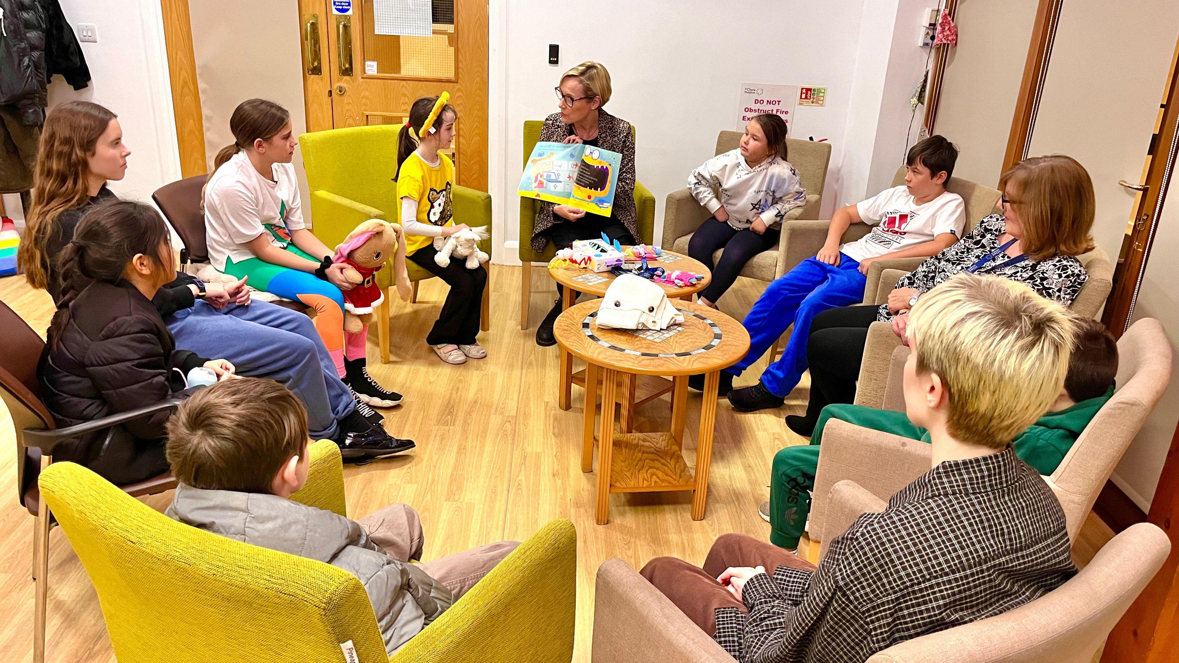
[[[1008,446],[930,470],[831,541],[816,571],[753,576],[749,615],[718,608],[714,637],[742,663],[863,663],[1075,573],[1060,503]]]

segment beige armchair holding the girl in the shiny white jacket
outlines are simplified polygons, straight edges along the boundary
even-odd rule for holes
[[[740,143],[740,136],[739,131],[722,131],[717,136],[716,153],[720,155],[730,150],[736,150]],[[811,251],[791,262],[788,255],[793,256],[793,252],[788,250],[786,228],[797,223],[796,219],[818,218],[823,185],[826,182],[826,165],[831,160],[831,144],[788,138],[786,152],[791,165],[798,171],[798,178],[802,180],[803,189],[806,189],[806,204],[790,210],[790,214],[786,215],[786,219],[782,224],[782,238],[778,241],[777,249],[763,251],[745,263],[745,268],[742,269],[740,275],[749,278],[773,281],[793,265],[815,255]],[[660,245],[664,249],[686,255],[689,241],[692,238],[696,229],[709,216],[709,210],[696,202],[691,190],[680,189],[672,192],[667,196],[667,206],[664,211],[664,232]],[[826,236],[825,232],[824,230],[824,237]],[[859,236],[862,237],[863,234]],[[819,245],[822,245],[822,242],[819,242]],[[712,260],[720,260],[723,251],[722,249],[713,254]]]

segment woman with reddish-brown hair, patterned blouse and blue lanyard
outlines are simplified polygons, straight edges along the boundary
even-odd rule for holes
[[[888,303],[831,309],[815,316],[806,342],[811,389],[806,415],[786,426],[810,436],[823,407],[850,403],[872,322],[893,324],[904,337],[909,309],[935,285],[960,273],[990,274],[1029,285],[1040,296],[1072,306],[1088,278],[1076,256],[1093,250],[1093,182],[1076,159],[1062,155],[1025,159],[1003,173],[1002,214],[990,215],[954,245],[905,274]]]

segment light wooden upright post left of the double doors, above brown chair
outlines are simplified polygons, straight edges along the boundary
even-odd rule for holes
[[[180,152],[180,176],[209,171],[205,156],[205,125],[197,86],[197,59],[192,51],[192,24],[187,0],[160,0],[167,77],[172,87],[172,114]]]

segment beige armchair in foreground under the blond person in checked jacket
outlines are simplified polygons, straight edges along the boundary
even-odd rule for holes
[[[839,518],[838,531],[829,521],[830,538],[861,513],[884,507],[852,481],[839,481],[830,497],[832,518]],[[867,663],[1089,663],[1170,550],[1162,530],[1134,525],[1055,591],[995,617],[895,644]],[[732,663],[625,560],[610,559],[598,569],[595,592],[594,663]]]

